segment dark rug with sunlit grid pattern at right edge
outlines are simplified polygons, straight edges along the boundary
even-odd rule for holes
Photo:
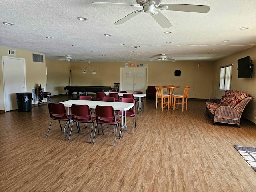
[[[234,145],[244,160],[256,171],[256,148]]]

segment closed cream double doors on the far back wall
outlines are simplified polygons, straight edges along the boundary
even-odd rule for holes
[[[148,84],[148,68],[146,67],[124,67],[120,73],[120,90],[133,93],[143,91],[146,93]]]

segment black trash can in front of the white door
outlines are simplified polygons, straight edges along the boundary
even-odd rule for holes
[[[18,112],[31,111],[32,93],[16,93]]]

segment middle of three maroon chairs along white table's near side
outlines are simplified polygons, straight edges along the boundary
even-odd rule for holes
[[[77,126],[77,130],[78,133],[80,133],[80,126],[79,123],[92,123],[91,126],[91,135],[92,135],[92,130],[93,130],[93,122],[95,120],[95,117],[92,116],[92,112],[90,110],[90,107],[88,105],[75,105],[73,104],[71,106],[71,112],[72,112],[72,125],[70,128],[70,134],[69,134],[69,138],[68,138],[68,142],[70,141],[70,137],[71,137],[71,132],[72,132],[72,128],[73,128],[73,124],[74,122],[76,122],[76,126]],[[66,132],[66,136],[65,136],[65,140],[67,138],[68,135],[68,129]],[[90,143],[91,143],[91,138],[90,137]]]

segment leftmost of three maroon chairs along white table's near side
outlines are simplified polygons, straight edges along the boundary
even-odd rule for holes
[[[52,124],[52,120],[58,120],[59,124],[60,124],[60,121],[66,121],[66,125],[64,127],[64,132],[65,132],[67,124],[68,124],[68,127],[69,127],[70,120],[71,120],[71,115],[68,115],[64,104],[62,104],[62,103],[49,103],[48,108],[49,108],[49,114],[50,114],[51,121],[50,121],[50,125],[49,125],[49,128],[48,128],[48,132],[46,134],[46,138],[48,137],[48,134],[49,134],[49,131],[50,131],[50,128],[51,128],[51,124]],[[61,124],[60,124],[60,129],[62,130]]]

